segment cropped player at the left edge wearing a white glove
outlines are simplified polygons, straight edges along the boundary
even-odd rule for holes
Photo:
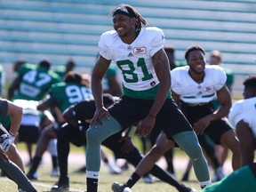
[[[15,135],[20,128],[20,121],[22,116],[22,108],[14,105],[9,100],[0,99],[0,115],[1,116],[11,116],[12,123],[10,132],[0,124],[0,169],[4,170],[9,179],[13,180],[18,185],[18,190],[35,192],[36,188],[31,184],[26,175],[24,174],[24,167],[20,155],[18,154],[17,148],[13,144],[15,140]],[[15,163],[17,162],[20,168],[13,164],[9,160],[10,156]]]

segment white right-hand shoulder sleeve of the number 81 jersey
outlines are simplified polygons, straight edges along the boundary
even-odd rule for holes
[[[152,57],[156,52],[164,47],[165,36],[164,32],[160,28],[150,28],[150,36],[152,41],[150,42],[150,56]]]

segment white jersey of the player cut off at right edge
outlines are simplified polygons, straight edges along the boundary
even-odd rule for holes
[[[241,120],[244,120],[245,123],[249,124],[256,138],[256,97],[236,101],[230,108],[228,120],[234,127]]]

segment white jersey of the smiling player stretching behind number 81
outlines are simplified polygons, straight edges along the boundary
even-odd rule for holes
[[[204,81],[201,84],[189,76],[188,69],[188,66],[172,69],[172,91],[179,94],[180,100],[186,103],[207,103],[215,100],[216,92],[226,84],[227,76],[223,68],[205,65]]]

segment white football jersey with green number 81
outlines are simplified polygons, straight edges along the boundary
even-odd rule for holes
[[[141,28],[132,44],[124,44],[115,30],[100,36],[100,55],[113,60],[122,70],[124,87],[146,91],[159,84],[152,56],[164,47],[164,33],[160,28]]]

